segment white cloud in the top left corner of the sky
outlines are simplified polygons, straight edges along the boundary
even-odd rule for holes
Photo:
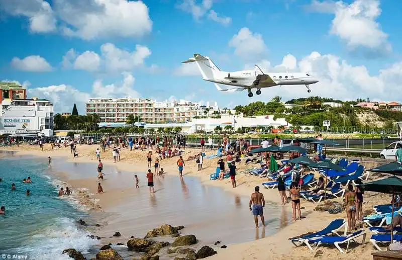
[[[33,33],[48,33],[56,30],[54,12],[44,0],[2,0],[0,10],[12,16],[27,17]]]

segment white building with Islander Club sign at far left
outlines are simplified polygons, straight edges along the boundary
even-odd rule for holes
[[[53,136],[53,103],[45,99],[3,100],[0,134]]]

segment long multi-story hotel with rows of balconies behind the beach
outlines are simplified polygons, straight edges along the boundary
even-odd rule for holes
[[[97,114],[102,123],[126,122],[130,114],[144,123],[184,123],[204,116],[204,110],[199,103],[185,100],[157,102],[151,99],[95,98],[86,103],[86,114]]]

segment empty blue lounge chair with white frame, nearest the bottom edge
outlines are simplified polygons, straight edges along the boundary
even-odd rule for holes
[[[341,253],[347,253],[349,249],[350,241],[356,242],[356,238],[359,236],[363,236],[363,242],[366,240],[366,232],[363,230],[356,231],[347,236],[322,236],[317,238],[310,238],[304,240],[304,243],[309,247],[310,250],[316,250],[321,244],[333,244]],[[313,249],[312,244],[316,244],[316,247]],[[346,251],[343,251],[340,247],[341,244],[347,243]]]

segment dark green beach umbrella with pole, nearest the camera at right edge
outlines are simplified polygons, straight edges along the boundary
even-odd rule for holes
[[[388,163],[391,164],[391,163]],[[393,212],[394,212],[394,196],[402,194],[402,180],[392,176],[386,179],[357,185],[362,191],[379,192],[392,194],[392,213],[391,213],[391,242],[393,240]]]

